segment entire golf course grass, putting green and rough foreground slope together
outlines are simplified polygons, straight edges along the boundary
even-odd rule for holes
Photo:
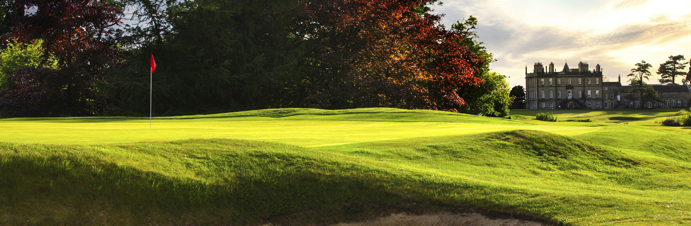
[[[533,120],[542,112],[592,122]],[[155,117],[151,129],[3,119],[0,225],[328,225],[437,207],[691,224],[691,129],[659,124],[681,112],[512,113],[266,109]]]

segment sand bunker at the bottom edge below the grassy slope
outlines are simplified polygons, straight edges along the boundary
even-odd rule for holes
[[[380,218],[366,220],[357,223],[339,223],[332,226],[547,226],[542,223],[529,220],[511,218],[489,218],[477,213],[453,214],[442,212],[439,214],[407,215],[391,214]]]

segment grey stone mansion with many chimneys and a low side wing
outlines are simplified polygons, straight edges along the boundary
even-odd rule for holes
[[[604,82],[600,64],[589,70],[588,64],[578,62],[578,68],[564,64],[556,72],[554,64],[549,67],[535,63],[533,73],[525,68],[526,109],[625,109],[638,108],[688,108],[691,104],[691,90],[686,85],[653,86],[662,102],[640,103],[638,93],[634,100],[627,100],[627,91],[636,86],[622,86],[618,82]]]

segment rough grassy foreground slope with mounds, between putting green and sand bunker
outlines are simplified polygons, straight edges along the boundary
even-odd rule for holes
[[[627,151],[522,130],[313,148],[0,143],[0,225],[324,224],[411,200],[574,225],[688,220],[691,151]]]

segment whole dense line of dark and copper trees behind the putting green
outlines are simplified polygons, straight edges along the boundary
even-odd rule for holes
[[[506,77],[489,71],[477,19],[447,30],[434,3],[0,1],[0,54],[42,41],[41,61],[57,62],[8,69],[0,116],[145,115],[150,53],[155,115],[375,106],[507,115]]]

